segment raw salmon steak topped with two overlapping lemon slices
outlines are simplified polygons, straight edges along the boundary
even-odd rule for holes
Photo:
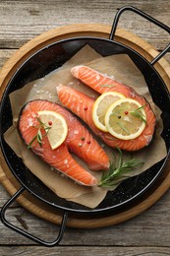
[[[85,85],[99,94],[109,91],[118,92],[124,96],[138,100],[143,106],[146,113],[146,126],[142,134],[136,139],[125,141],[113,137],[110,133],[102,132],[95,126],[92,120],[94,98],[63,85],[57,87],[57,93],[62,104],[81,117],[100,139],[112,148],[119,147],[125,151],[139,151],[150,143],[155,129],[155,115],[144,97],[138,95],[132,88],[114,81],[86,66],[76,66],[72,68],[71,72],[75,78],[80,79]]]

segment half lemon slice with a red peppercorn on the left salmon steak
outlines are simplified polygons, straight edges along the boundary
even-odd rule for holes
[[[50,110],[38,111],[38,116],[45,127],[48,127],[47,138],[52,150],[58,148],[66,139],[68,127],[61,114]]]

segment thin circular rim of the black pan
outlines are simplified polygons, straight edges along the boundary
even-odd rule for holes
[[[130,48],[129,46],[127,45],[124,45],[120,42],[117,42],[117,41],[113,41],[113,40],[110,40],[110,39],[107,39],[107,38],[101,38],[101,37],[95,37],[95,36],[76,36],[76,37],[71,37],[71,38],[66,38],[66,39],[62,39],[62,40],[59,40],[57,42],[52,42],[52,43],[49,43],[45,46],[43,46],[41,49],[39,49],[38,51],[32,53],[21,65],[20,67],[16,70],[16,72],[13,74],[12,78],[10,79],[10,81],[8,82],[5,90],[4,90],[4,93],[2,95],[2,98],[1,98],[1,107],[0,107],[0,118],[1,118],[1,121],[2,121],[2,114],[1,114],[1,111],[2,111],[2,108],[3,108],[3,105],[5,103],[5,99],[6,97],[8,96],[8,91],[10,89],[10,86],[11,84],[13,83],[13,81],[15,80],[15,78],[17,77],[18,73],[21,71],[21,69],[28,63],[29,59],[31,59],[33,56],[35,56],[36,54],[38,54],[40,51],[50,47],[50,46],[53,46],[54,44],[58,44],[58,43],[62,43],[62,42],[65,42],[65,41],[70,41],[70,40],[76,40],[76,39],[96,39],[96,40],[104,40],[104,41],[109,41],[109,42],[113,42],[113,43],[116,43],[117,45],[120,45],[120,46],[123,46],[125,48],[127,48],[128,50],[134,52],[135,54],[137,54],[139,57],[142,58],[143,61],[145,61],[152,69],[153,71],[156,73],[156,75],[160,78],[160,80],[162,81],[162,83],[165,85],[164,81],[162,80],[162,78],[160,77],[160,75],[158,74],[158,72],[156,71],[156,69],[144,58],[142,57],[142,55],[140,53],[138,53],[136,50]],[[169,92],[168,92],[168,89],[165,85],[165,90],[166,90],[166,94],[168,94],[169,96]],[[169,96],[170,98],[170,96]],[[1,130],[1,123],[0,122],[0,130]],[[1,134],[0,137],[2,137],[3,134]],[[0,145],[1,145],[1,148],[2,148],[2,152],[3,152],[3,155],[4,155],[4,158],[6,160],[6,162],[8,163],[8,166],[10,167],[12,173],[15,175],[15,177],[19,180],[19,182],[28,190],[29,193],[33,194],[35,197],[37,197],[38,199],[42,200],[43,202],[49,204],[49,205],[52,205],[54,206],[52,203],[50,203],[49,201],[46,201],[45,199],[41,198],[39,195],[35,194],[33,191],[31,191],[31,189],[28,188],[28,186],[18,177],[18,175],[15,173],[15,171],[13,170],[13,168],[11,167],[10,165],[10,162],[5,154],[5,151],[4,151],[4,147],[3,147],[3,143],[2,143],[2,138],[0,138]],[[164,163],[162,164],[161,168],[159,169],[158,173],[154,176],[154,178],[147,184],[147,186],[145,186],[142,191],[140,191],[139,193],[137,193],[135,196],[133,196],[132,198],[124,201],[123,203],[120,203],[116,206],[111,206],[111,207],[107,207],[107,208],[103,208],[103,209],[90,209],[90,210],[80,210],[80,209],[72,209],[72,208],[68,208],[68,207],[63,207],[63,206],[59,206],[59,205],[56,205],[54,207],[58,208],[58,209],[61,209],[63,211],[68,211],[68,212],[74,212],[74,213],[85,213],[85,214],[91,214],[91,213],[98,213],[98,214],[101,214],[101,213],[105,213],[105,212],[108,212],[108,211],[113,211],[114,209],[119,209],[119,207],[122,207],[124,205],[127,205],[127,203],[129,202],[132,202],[134,201],[135,199],[139,198],[139,196],[141,196],[143,194],[143,192],[147,191],[148,188],[150,188],[150,186],[153,185],[153,183],[155,183],[155,180],[157,180],[157,178],[161,175],[161,172],[162,172],[162,169],[165,168],[166,166],[166,163],[167,161],[169,160],[170,158],[170,150],[167,152],[167,156],[166,158],[164,159]]]

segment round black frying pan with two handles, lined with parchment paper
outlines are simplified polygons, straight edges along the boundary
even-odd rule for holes
[[[170,45],[168,45],[155,59],[152,60],[152,62],[149,63],[132,48],[114,41],[113,38],[119,18],[121,14],[127,10],[136,12],[166,32],[170,32],[168,27],[142,13],[140,10],[135,9],[134,7],[124,7],[118,11],[115,17],[109,39],[82,36],[64,39],[45,46],[44,48],[31,55],[20,66],[20,68],[11,78],[2,96],[0,108],[1,148],[5,160],[7,161],[13,174],[21,183],[22,187],[2,208],[1,220],[7,226],[44,245],[52,246],[59,243],[64,231],[68,213],[73,212],[76,214],[101,215],[107,213],[114,214],[123,211],[126,208],[130,208],[137,201],[140,202],[144,194],[148,193],[148,191],[151,191],[151,189],[153,189],[153,187],[158,184],[159,179],[165,175],[165,171],[167,172],[166,164],[170,157],[170,95],[165,83],[154,69],[153,65],[169,50]],[[61,67],[86,44],[88,44],[102,56],[127,54],[133,60],[133,62],[142,72],[153,101],[162,110],[162,120],[164,125],[162,137],[167,147],[167,157],[164,160],[157,162],[142,174],[122,182],[113,192],[108,192],[105,199],[95,209],[92,210],[86,208],[83,205],[61,199],[55,195],[28,170],[23,161],[15,155],[11,148],[5,143],[3,138],[4,132],[12,125],[13,119],[11,114],[9,94],[17,89],[24,87],[26,84],[28,84],[28,82],[41,78],[52,70]],[[7,112],[9,113],[8,115],[6,114]],[[63,222],[60,227],[59,235],[54,242],[42,241],[39,238],[32,236],[28,232],[14,226],[13,224],[10,224],[5,219],[5,211],[7,207],[26,189],[43,202],[63,210]]]

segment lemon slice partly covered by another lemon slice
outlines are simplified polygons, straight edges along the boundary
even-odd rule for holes
[[[108,131],[104,122],[105,114],[108,107],[119,98],[125,98],[125,96],[116,92],[107,92],[95,100],[92,108],[92,119],[95,126],[101,131]]]

